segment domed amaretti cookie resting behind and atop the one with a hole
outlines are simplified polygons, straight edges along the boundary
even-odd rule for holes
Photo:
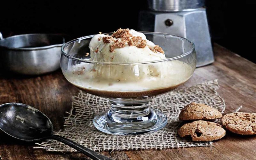
[[[222,114],[217,109],[192,102],[181,110],[179,120],[211,120],[221,117]]]

